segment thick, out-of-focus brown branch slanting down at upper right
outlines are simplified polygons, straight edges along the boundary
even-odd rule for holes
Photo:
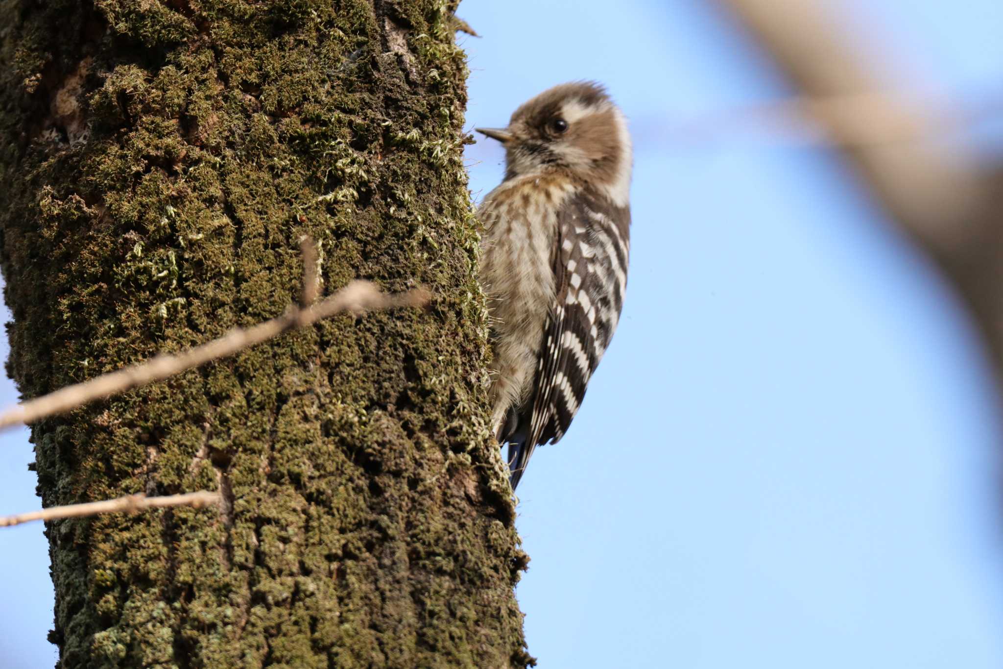
[[[952,117],[951,107],[933,98],[883,94],[898,86],[864,56],[882,52],[864,48],[876,45],[862,45],[860,35],[816,1],[720,2],[769,52],[797,88],[798,104],[887,214],[955,286],[1003,380],[1003,172],[980,164],[964,142],[943,141],[945,127],[964,122]],[[848,113],[858,104],[864,108]],[[859,140],[871,130],[890,129],[898,140]]]

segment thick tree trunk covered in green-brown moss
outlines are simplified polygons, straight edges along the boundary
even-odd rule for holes
[[[32,426],[66,667],[525,666],[526,557],[442,0],[0,0],[8,371],[26,396],[324,292],[431,289]]]

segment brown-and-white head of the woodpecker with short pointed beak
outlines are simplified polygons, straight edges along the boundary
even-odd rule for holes
[[[625,206],[631,140],[623,113],[597,83],[564,83],[516,109],[504,128],[477,132],[506,147],[506,179],[564,170]]]

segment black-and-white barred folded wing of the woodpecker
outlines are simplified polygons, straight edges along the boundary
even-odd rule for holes
[[[529,429],[510,447],[513,487],[537,445],[564,436],[613,337],[627,287],[629,222],[628,209],[585,195],[569,198],[558,214],[556,300],[544,331],[536,392],[527,402]]]

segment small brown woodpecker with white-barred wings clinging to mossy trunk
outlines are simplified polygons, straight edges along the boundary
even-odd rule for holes
[[[501,184],[477,210],[494,358],[489,398],[513,490],[538,445],[564,436],[623,308],[631,139],[593,82],[555,86],[505,128]]]

